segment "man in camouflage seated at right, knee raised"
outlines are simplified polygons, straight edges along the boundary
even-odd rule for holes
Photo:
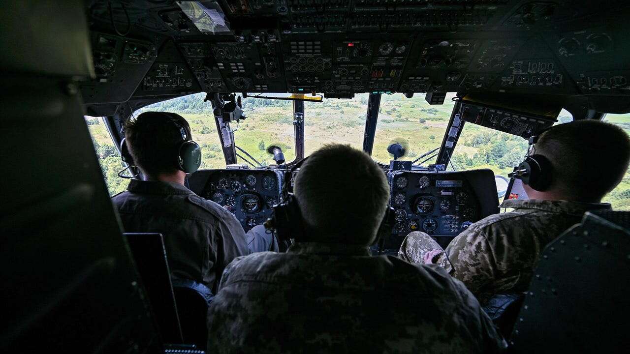
[[[587,144],[588,142],[588,144]],[[627,134],[595,120],[550,128],[533,147],[553,165],[549,188],[524,185],[529,200],[505,200],[512,212],[490,215],[455,237],[445,250],[425,232],[411,232],[399,258],[437,264],[461,280],[486,304],[495,294],[524,292],[542,249],[588,210],[610,208],[599,203],[619,184],[630,160]],[[597,166],[606,166],[602,171]]]

